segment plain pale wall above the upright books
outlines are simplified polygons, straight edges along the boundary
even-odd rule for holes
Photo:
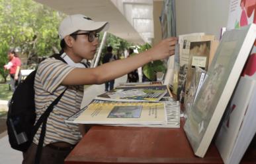
[[[205,32],[219,38],[227,26],[230,0],[176,0],[177,36]]]

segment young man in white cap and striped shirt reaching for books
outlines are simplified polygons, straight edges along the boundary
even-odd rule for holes
[[[174,54],[177,39],[169,38],[134,57],[106,63],[96,68],[83,67],[80,62],[83,59],[93,59],[95,55],[99,43],[98,32],[107,28],[108,22],[95,22],[81,14],[67,16],[59,28],[62,40],[61,57],[67,64],[49,58],[38,66],[34,81],[37,119],[67,88],[48,117],[41,164],[64,163],[67,154],[85,134],[85,126],[65,123],[65,119],[80,109],[83,85],[103,84],[150,61],[164,59]],[[40,129],[34,136],[34,143],[23,154],[23,164],[34,162],[39,136]]]

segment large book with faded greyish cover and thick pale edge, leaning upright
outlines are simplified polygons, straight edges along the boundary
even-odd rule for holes
[[[255,24],[227,31],[222,37],[184,126],[198,157],[204,157],[212,141],[255,37]]]

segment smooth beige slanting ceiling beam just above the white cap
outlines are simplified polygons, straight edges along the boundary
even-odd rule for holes
[[[110,0],[34,0],[65,14],[85,14],[96,21],[110,22],[108,32],[132,43],[145,43],[134,27]]]

